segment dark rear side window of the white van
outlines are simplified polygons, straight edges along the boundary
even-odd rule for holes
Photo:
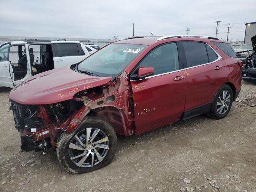
[[[77,43],[54,43],[55,57],[78,56]]]

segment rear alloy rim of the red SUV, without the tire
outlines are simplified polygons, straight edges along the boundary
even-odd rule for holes
[[[217,100],[217,112],[220,115],[223,115],[224,113],[226,113],[226,111],[228,110],[229,106],[230,106],[230,92],[227,90],[224,90],[220,96],[218,97]]]

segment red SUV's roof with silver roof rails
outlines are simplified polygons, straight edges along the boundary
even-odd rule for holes
[[[197,40],[197,41],[221,41],[218,40],[218,38],[215,37],[202,37],[199,35],[170,35],[170,36],[134,36],[125,38],[123,40],[114,42],[114,43],[126,43],[126,44],[141,44],[141,45],[152,45],[156,42],[162,41],[162,40],[170,40],[170,41],[176,41],[178,40]],[[227,43],[227,42],[226,42]]]

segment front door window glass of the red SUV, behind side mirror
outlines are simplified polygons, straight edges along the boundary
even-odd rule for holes
[[[153,67],[154,74],[163,74],[179,69],[176,43],[168,43],[152,50],[140,63],[140,67]]]

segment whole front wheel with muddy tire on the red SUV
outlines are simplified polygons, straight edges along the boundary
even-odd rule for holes
[[[116,144],[116,132],[110,124],[101,118],[87,116],[73,133],[60,135],[57,157],[67,172],[91,172],[112,161]]]

